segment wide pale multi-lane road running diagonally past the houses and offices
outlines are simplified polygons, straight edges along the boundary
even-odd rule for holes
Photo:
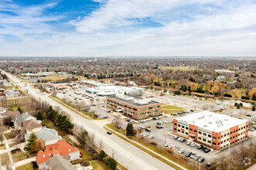
[[[164,162],[161,162],[151,155],[148,155],[146,152],[141,151],[139,148],[130,145],[130,143],[123,141],[116,135],[106,134],[106,130],[99,127],[95,121],[90,121],[84,117],[81,117],[72,110],[67,109],[67,107],[62,106],[55,100],[47,97],[47,95],[38,93],[38,90],[33,89],[33,87],[30,87],[29,84],[25,86],[25,83],[21,82],[21,80],[17,79],[15,76],[12,76],[9,73],[5,74],[24,90],[28,90],[29,94],[35,97],[36,100],[47,102],[53,107],[60,107],[61,110],[64,110],[70,114],[71,120],[74,122],[74,124],[76,124],[76,126],[83,126],[89,132],[89,134],[93,134],[95,136],[95,145],[100,145],[100,143],[103,143],[104,151],[106,151],[108,155],[113,155],[113,158],[115,158],[116,161],[124,167],[128,169],[173,169],[164,164]]]

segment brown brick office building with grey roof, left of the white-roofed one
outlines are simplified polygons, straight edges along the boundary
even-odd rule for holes
[[[161,103],[126,94],[106,97],[106,107],[112,110],[122,110],[124,115],[135,120],[142,120],[161,114]]]

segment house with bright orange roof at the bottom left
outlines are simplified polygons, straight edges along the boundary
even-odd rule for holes
[[[39,169],[46,167],[46,162],[48,159],[60,155],[67,160],[74,161],[82,157],[81,151],[78,148],[71,145],[71,143],[61,139],[53,145],[47,145],[44,151],[39,151],[36,155],[36,163]]]

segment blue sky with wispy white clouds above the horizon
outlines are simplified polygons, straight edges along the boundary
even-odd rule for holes
[[[0,56],[255,56],[254,0],[0,0]]]

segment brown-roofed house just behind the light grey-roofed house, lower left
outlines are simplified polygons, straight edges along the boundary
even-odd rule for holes
[[[21,124],[21,132],[24,136],[25,134],[36,133],[42,129],[42,125],[34,119],[29,119],[26,121],[22,121]]]

